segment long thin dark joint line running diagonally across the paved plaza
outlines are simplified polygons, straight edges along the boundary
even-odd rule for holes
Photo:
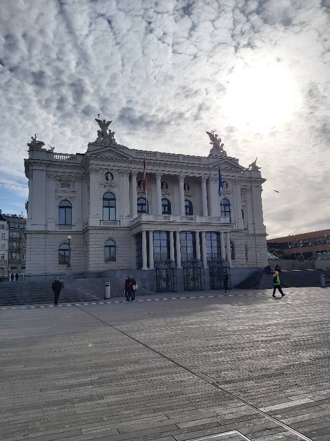
[[[218,386],[217,384],[201,377],[198,373],[191,371],[191,369],[189,369],[189,367],[184,366],[183,364],[178,363],[177,361],[173,360],[173,358],[168,357],[167,355],[157,351],[156,349],[152,348],[151,346],[147,345],[146,343],[141,342],[140,340],[136,339],[135,337],[131,336],[130,334],[127,334],[125,331],[119,329],[118,327],[107,323],[106,321],[102,320],[101,318],[95,316],[94,314],[85,311],[85,309],[80,308],[79,306],[74,305],[77,309],[80,309],[81,311],[85,312],[86,314],[89,314],[91,317],[94,317],[96,320],[99,320],[101,323],[105,324],[108,327],[111,327],[112,329],[115,329],[117,332],[119,332],[120,334],[125,335],[126,337],[130,338],[131,340],[135,341],[136,343],[144,346],[145,348],[149,349],[150,351],[156,353],[157,355],[159,355],[160,357],[170,361],[171,363],[175,364],[178,367],[181,367],[181,369],[185,370],[186,372],[189,372],[189,374],[198,377],[200,380],[203,380],[205,383],[210,384],[211,386],[215,387],[216,389],[218,389],[219,391],[227,394],[228,396],[230,396],[231,398],[236,399],[237,401],[241,402],[243,405],[249,407],[250,409],[253,409],[255,412],[259,413],[260,415],[264,416],[265,418],[270,419],[271,421],[273,421],[274,423],[277,423],[278,425],[280,425],[281,427],[283,427],[284,429],[290,431],[291,433],[294,433],[295,435],[299,436],[300,438],[304,439],[305,441],[313,441],[311,438],[308,438],[308,436],[303,435],[302,433],[298,432],[298,430],[294,429],[291,426],[288,426],[285,423],[282,423],[281,421],[277,420],[276,418],[272,417],[271,415],[267,414],[266,412],[261,411],[260,409],[256,408],[255,406],[251,405],[249,402],[243,400],[242,398],[239,398],[238,396],[234,395],[233,393],[227,391],[226,389],[223,389],[222,387]]]

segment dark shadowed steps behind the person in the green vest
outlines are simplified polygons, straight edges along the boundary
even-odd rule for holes
[[[292,270],[281,271],[280,281],[283,288],[320,286],[320,275],[330,277],[330,270]],[[273,287],[272,275],[264,271],[257,271],[241,282],[236,288],[267,289]]]

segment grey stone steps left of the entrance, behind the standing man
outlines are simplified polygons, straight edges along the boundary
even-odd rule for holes
[[[60,302],[95,302],[104,298],[104,283],[108,279],[73,279],[70,286],[64,283]],[[123,297],[122,281],[111,282],[111,297]],[[151,295],[154,292],[140,288],[137,296]],[[51,282],[3,282],[0,283],[0,306],[32,305],[53,303],[54,293]]]

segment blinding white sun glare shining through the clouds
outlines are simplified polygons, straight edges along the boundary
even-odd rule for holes
[[[299,94],[290,72],[279,64],[233,72],[224,109],[230,124],[267,132],[290,120]]]

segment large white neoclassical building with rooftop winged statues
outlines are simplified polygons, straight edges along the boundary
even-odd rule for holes
[[[193,260],[205,287],[211,260],[227,258],[233,283],[267,265],[265,179],[255,162],[245,169],[227,157],[217,137],[209,156],[199,157],[129,149],[113,134],[101,127],[85,154],[46,151],[35,138],[28,144],[26,277],[64,274],[71,261],[73,273],[110,278],[132,273],[154,289],[154,266],[171,259],[178,289],[187,289]]]

